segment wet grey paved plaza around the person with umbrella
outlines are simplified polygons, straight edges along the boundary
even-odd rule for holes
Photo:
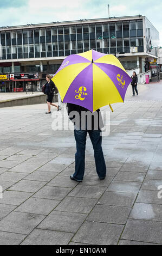
[[[138,90],[112,105],[105,180],[89,137],[85,177],[69,179],[74,132],[46,104],[0,109],[0,245],[162,245],[162,82]]]

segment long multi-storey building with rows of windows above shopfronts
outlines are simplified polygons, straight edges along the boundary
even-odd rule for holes
[[[66,56],[90,49],[115,54],[126,70],[144,72],[145,63],[149,68],[157,59],[159,33],[145,16],[111,17],[2,27],[0,45],[0,75],[15,77],[0,77],[0,92],[16,92],[40,88]]]

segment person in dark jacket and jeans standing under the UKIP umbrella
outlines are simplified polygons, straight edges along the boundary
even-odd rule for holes
[[[100,109],[92,113],[88,111],[87,108],[72,103],[67,103],[67,111],[70,120],[74,123],[74,137],[76,141],[75,172],[74,174],[70,175],[70,179],[77,182],[81,182],[83,180],[85,173],[85,149],[87,133],[89,133],[89,137],[94,149],[96,172],[100,180],[105,179],[106,164],[101,146],[101,128],[103,127],[103,121]]]

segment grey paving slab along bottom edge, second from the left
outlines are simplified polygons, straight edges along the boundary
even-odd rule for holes
[[[73,233],[35,229],[21,245],[68,245]]]

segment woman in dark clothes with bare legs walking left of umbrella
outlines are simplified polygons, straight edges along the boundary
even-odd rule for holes
[[[47,83],[44,84],[44,87],[46,88],[45,89],[45,94],[47,94],[47,105],[48,105],[48,112],[46,112],[46,114],[50,114],[51,111],[50,111],[50,106],[54,106],[57,108],[57,111],[59,111],[59,107],[60,106],[57,106],[56,104],[52,103],[53,102],[53,97],[54,97],[54,92],[56,90],[56,86],[54,84],[53,81],[51,81],[51,76],[50,75],[47,75],[46,76],[46,81]]]

